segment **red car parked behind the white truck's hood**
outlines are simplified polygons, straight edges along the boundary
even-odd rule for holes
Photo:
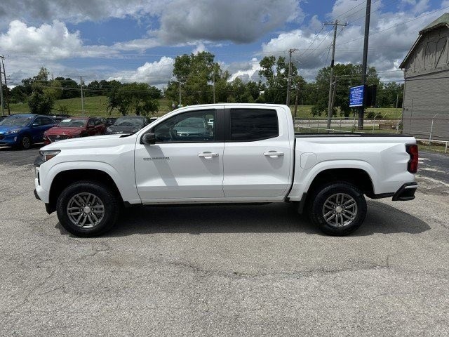
[[[45,145],[58,140],[105,134],[106,126],[95,117],[68,117],[43,133]]]

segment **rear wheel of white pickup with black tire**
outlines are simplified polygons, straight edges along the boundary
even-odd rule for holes
[[[349,197],[354,199],[356,206],[351,208],[352,212],[349,211],[349,209],[340,208],[338,211],[330,209],[329,205],[335,200],[333,197],[337,194],[340,194],[340,199],[342,199],[342,195],[347,196],[344,200],[348,200]],[[349,202],[349,200],[347,202]],[[326,206],[324,206],[325,203]],[[354,203],[351,202],[347,205],[349,206],[352,204]],[[340,206],[340,204],[337,204],[337,207],[338,206]],[[333,207],[335,208],[335,206]],[[333,213],[325,214],[325,211]],[[308,203],[307,213],[311,222],[318,226],[322,232],[333,236],[344,236],[357,230],[363,223],[363,220],[365,220],[366,199],[363,196],[363,192],[350,183],[330,183],[330,185],[322,185],[312,192],[311,199],[309,199]],[[349,213],[354,213],[354,216],[349,215]],[[326,220],[325,215],[327,214],[329,214],[328,217],[333,218],[328,218],[328,220]],[[348,216],[349,218],[347,218]],[[334,223],[335,221],[338,225]],[[339,222],[341,222],[341,224]],[[346,222],[347,224],[345,225],[344,223]]]

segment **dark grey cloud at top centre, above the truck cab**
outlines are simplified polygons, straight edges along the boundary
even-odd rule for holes
[[[168,44],[196,40],[243,44],[302,18],[298,0],[173,0],[154,34]]]

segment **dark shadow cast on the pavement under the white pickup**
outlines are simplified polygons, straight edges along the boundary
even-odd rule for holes
[[[68,234],[58,223],[61,234]],[[424,221],[377,201],[370,201],[365,223],[351,236],[375,233],[419,234]],[[260,206],[147,206],[126,209],[105,237],[154,233],[305,233],[323,235],[293,204]]]

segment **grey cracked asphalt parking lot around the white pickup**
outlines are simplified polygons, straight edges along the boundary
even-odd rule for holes
[[[38,150],[0,147],[1,336],[449,334],[447,156],[349,237],[271,204],[132,209],[79,239],[34,199]]]

